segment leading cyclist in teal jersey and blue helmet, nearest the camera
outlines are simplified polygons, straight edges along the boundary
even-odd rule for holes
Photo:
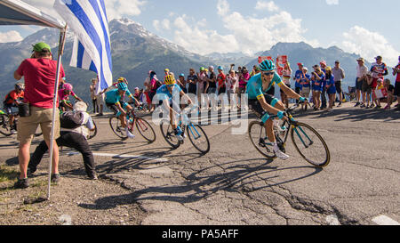
[[[251,77],[247,83],[247,93],[249,97],[249,107],[261,118],[264,123],[266,134],[269,142],[274,146],[274,152],[277,158],[287,159],[288,155],[284,154],[276,144],[274,134],[274,122],[270,119],[268,113],[277,115],[280,119],[286,119],[284,114],[284,103],[274,96],[268,94],[268,90],[273,85],[279,85],[281,90],[289,97],[300,101],[308,101],[295,93],[291,88],[284,85],[281,77],[276,73],[276,66],[273,61],[265,60],[260,63],[261,72]],[[282,128],[281,128],[282,129]]]

